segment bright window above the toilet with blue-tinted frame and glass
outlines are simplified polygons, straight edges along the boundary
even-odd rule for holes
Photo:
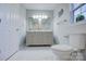
[[[86,4],[85,3],[72,3],[71,13],[73,23],[76,22],[76,17],[81,14],[85,16],[86,20]]]

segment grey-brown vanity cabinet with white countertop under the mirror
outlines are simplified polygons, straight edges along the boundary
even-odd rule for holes
[[[26,31],[26,46],[51,46],[53,36],[51,30]]]

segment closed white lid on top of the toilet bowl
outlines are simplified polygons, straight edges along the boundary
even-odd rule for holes
[[[59,51],[73,51],[74,50],[71,46],[66,46],[66,44],[56,44],[56,46],[52,46],[51,48]]]

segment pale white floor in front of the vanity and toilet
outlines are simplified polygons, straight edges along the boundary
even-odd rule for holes
[[[57,61],[57,59],[50,47],[25,47],[9,61]]]

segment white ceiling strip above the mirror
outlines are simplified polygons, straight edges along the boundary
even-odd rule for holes
[[[24,3],[27,10],[54,10],[57,3]]]

